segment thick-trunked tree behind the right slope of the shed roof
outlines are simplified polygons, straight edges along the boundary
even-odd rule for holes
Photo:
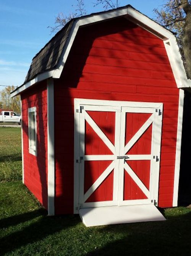
[[[187,75],[191,78],[191,0],[167,0],[154,12],[159,24],[176,33]]]

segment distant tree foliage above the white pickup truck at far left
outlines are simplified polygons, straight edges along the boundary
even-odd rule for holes
[[[20,96],[15,96],[13,98],[10,96],[10,92],[14,89],[14,86],[7,86],[5,89],[0,91],[0,107],[2,109],[11,109],[16,113],[20,113]]]

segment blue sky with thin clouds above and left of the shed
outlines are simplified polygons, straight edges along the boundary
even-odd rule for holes
[[[94,0],[84,0],[87,14],[103,11]],[[114,0],[115,2],[115,0]],[[153,9],[165,0],[120,0],[154,18]],[[58,13],[75,12],[76,0],[0,0],[0,90],[23,84],[32,58],[54,36]]]

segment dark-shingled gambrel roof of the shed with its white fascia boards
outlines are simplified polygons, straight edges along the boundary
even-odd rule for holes
[[[13,91],[11,97],[44,79],[60,78],[71,46],[80,27],[121,16],[138,24],[163,40],[177,87],[191,87],[191,80],[186,76],[173,32],[163,28],[152,19],[134,9],[131,5],[126,5],[117,9],[71,19],[32,59],[24,84]]]

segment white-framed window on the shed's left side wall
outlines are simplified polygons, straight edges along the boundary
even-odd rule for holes
[[[36,107],[28,109],[29,121],[29,153],[37,156],[37,123],[36,123]]]

